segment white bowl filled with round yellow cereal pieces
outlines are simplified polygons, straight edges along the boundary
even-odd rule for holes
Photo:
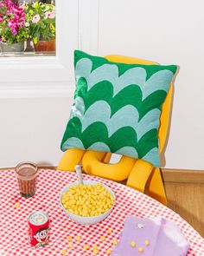
[[[84,181],[84,185],[74,182],[62,190],[60,202],[73,221],[92,225],[112,212],[115,194],[110,187],[97,181]]]

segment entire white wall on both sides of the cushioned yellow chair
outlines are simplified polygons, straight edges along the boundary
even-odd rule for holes
[[[166,167],[204,169],[203,0],[101,0],[99,55],[178,64]],[[0,167],[56,165],[72,95],[0,99]]]

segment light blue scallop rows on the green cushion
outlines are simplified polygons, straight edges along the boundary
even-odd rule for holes
[[[157,71],[154,75],[151,75],[148,80],[146,70],[142,67],[135,67],[128,69],[123,75],[118,75],[118,66],[115,64],[103,64],[99,68],[92,70],[92,61],[88,58],[82,58],[76,63],[75,75],[76,81],[80,78],[85,78],[87,82],[87,93],[95,84],[108,81],[112,83],[113,96],[117,95],[122,89],[136,84],[142,91],[142,99],[146,99],[149,95],[157,90],[163,90],[168,92],[169,84],[173,78],[173,72],[168,69]],[[120,128],[131,127],[137,134],[137,141],[139,141],[143,135],[148,133],[151,129],[159,127],[159,116],[161,114],[160,109],[152,109],[146,115],[139,120],[139,113],[136,107],[132,105],[125,105],[123,108],[118,109],[114,115],[112,115],[112,109],[108,102],[97,101],[93,102],[85,112],[85,104],[83,98],[76,97],[75,103],[72,107],[70,119],[78,117],[81,122],[83,133],[86,131],[92,123],[101,122],[104,123],[108,137],[110,138]],[[70,147],[74,145],[73,147]],[[84,148],[82,141],[79,138],[69,138],[64,144],[62,149],[66,148]],[[88,149],[110,152],[110,148],[104,142],[95,142]],[[137,150],[133,147],[119,148],[117,154],[130,155],[137,157]],[[152,148],[150,152],[143,156],[143,160],[150,161],[154,166],[159,166],[159,152],[158,148]]]

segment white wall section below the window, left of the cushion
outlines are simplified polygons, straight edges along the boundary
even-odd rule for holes
[[[1,99],[0,167],[57,165],[70,105],[68,98]]]

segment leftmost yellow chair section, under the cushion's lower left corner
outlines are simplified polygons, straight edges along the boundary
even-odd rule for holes
[[[78,148],[70,148],[65,151],[61,157],[57,169],[61,171],[74,171],[74,168],[82,160],[85,150]]]

